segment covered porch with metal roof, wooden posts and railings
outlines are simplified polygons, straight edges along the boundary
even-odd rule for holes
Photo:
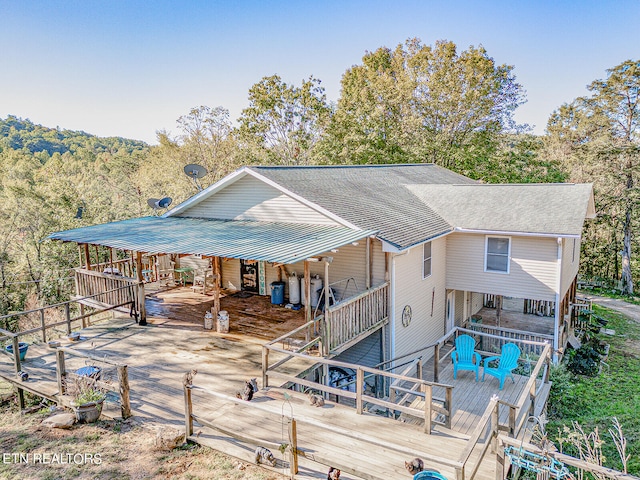
[[[191,322],[201,325],[207,311],[215,321],[221,311],[233,310],[231,329],[262,329],[271,335],[265,338],[274,338],[275,324],[292,326],[290,331],[300,319],[317,320],[326,336],[323,344],[330,346],[323,353],[336,355],[388,318],[387,257],[373,233],[327,225],[147,217],[50,238],[78,244],[83,265],[75,272],[74,299],[88,306],[111,305],[105,292],[128,285],[125,291],[135,297],[131,313],[145,325],[147,309],[161,309],[160,291],[163,302],[172,297],[189,304],[202,297],[207,301],[196,303],[203,308],[187,314]],[[275,286],[279,292],[274,294]],[[168,295],[167,289],[180,293]],[[239,304],[230,306],[237,298]]]

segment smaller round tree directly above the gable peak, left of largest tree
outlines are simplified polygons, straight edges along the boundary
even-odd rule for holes
[[[320,80],[309,77],[300,87],[278,75],[264,77],[249,90],[249,106],[240,117],[245,149],[254,161],[284,165],[311,163],[312,151],[330,118]]]

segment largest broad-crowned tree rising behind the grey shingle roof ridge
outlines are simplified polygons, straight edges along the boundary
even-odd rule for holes
[[[513,67],[498,65],[482,47],[461,53],[409,39],[395,50],[367,53],[342,78],[342,92],[325,145],[342,163],[434,162],[461,173],[514,130],[524,101]]]

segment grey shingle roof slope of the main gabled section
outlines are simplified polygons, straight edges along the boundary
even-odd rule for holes
[[[249,169],[400,249],[453,228],[406,185],[476,183],[434,164]]]

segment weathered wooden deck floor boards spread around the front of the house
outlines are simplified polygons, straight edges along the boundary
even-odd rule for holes
[[[455,387],[452,429],[436,427],[431,435],[411,423],[375,414],[357,415],[352,407],[345,405],[327,402],[325,407],[315,408],[303,394],[290,390],[286,391],[290,395],[286,399],[285,391],[280,388],[260,391],[250,402],[266,406],[269,412],[208,395],[201,389],[233,397],[245,380],[260,378],[264,339],[276,338],[303,323],[301,312],[255,303],[261,300],[264,297],[223,298],[223,308],[230,312],[231,331],[218,334],[203,329],[204,312],[209,308],[210,298],[194,294],[190,289],[157,292],[147,303],[148,326],[136,325],[128,317],[107,320],[82,330],[81,341],[69,346],[128,365],[133,414],[151,424],[184,427],[182,377],[194,368],[198,370],[194,379],[197,387],[194,414],[230,432],[279,443],[286,434],[282,414],[293,414],[299,419],[299,448],[320,463],[331,462],[331,465],[342,467],[341,478],[347,480],[408,478],[404,461],[420,453],[456,461],[491,396],[495,394],[507,402],[515,402],[522,392],[523,377],[517,377],[515,384],[507,380],[504,390],[500,391],[495,378],[487,377],[484,383],[481,379],[476,383],[472,372],[460,372],[458,379],[453,380],[450,363],[444,362],[439,381]],[[240,318],[243,320],[234,321]],[[67,369],[80,368],[84,362],[80,357],[69,356]],[[308,362],[294,359],[285,365],[290,374],[297,374],[307,368]],[[23,362],[23,370],[30,375],[25,386],[50,396],[56,394],[55,350],[42,344],[32,345]],[[429,379],[432,372],[429,365],[425,366],[424,372]],[[0,355],[0,374],[13,377],[11,357]],[[117,415],[119,406],[108,402],[105,413]],[[355,438],[337,434],[335,428],[338,426],[347,429]],[[196,432],[198,442],[247,462],[253,461],[255,445],[244,445],[202,425],[196,425]],[[390,448],[391,444],[395,448]],[[282,472],[284,458],[279,452],[274,453],[280,459],[276,469]],[[493,455],[487,457],[476,478],[495,480],[493,458]],[[300,465],[297,478],[326,478],[324,466],[308,459],[302,459]],[[428,466],[450,479],[455,478],[453,467]],[[350,468],[370,473],[350,476]]]

